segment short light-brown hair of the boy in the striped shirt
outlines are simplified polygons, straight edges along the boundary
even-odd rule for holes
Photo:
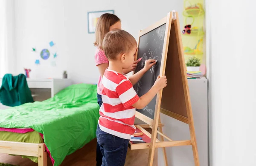
[[[116,60],[117,55],[128,53],[136,46],[134,37],[124,30],[108,32],[102,42],[104,53],[110,60]]]

